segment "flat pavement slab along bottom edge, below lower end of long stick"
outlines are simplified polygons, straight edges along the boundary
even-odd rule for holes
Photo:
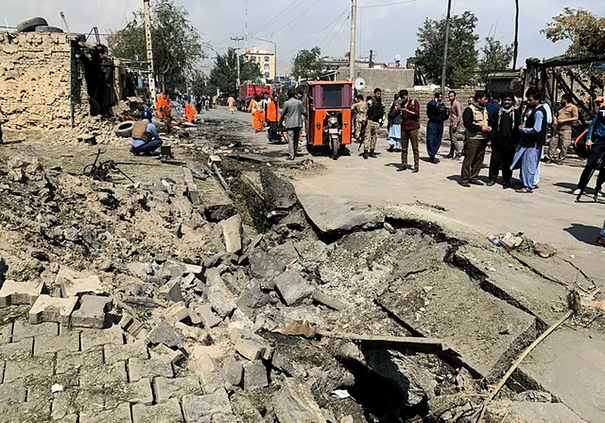
[[[485,417],[499,423],[586,423],[563,403],[492,401]]]

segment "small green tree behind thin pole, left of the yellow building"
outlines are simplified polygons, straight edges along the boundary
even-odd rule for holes
[[[244,56],[239,56],[239,79],[243,82],[258,82],[262,77],[261,68],[258,63],[247,61]],[[214,61],[214,67],[210,72],[210,84],[218,87],[220,92],[237,94],[235,87],[237,83],[237,52],[228,49],[225,54],[219,54]]]

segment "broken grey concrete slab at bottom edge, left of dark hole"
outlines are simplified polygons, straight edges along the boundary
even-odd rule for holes
[[[280,423],[327,423],[304,382],[285,378],[272,400]]]

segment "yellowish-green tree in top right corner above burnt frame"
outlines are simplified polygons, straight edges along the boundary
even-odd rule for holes
[[[571,45],[567,54],[573,57],[597,56],[605,52],[605,18],[582,8],[563,8],[542,33],[551,42],[569,40]]]

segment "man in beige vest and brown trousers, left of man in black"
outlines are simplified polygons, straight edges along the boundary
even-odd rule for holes
[[[462,114],[464,124],[466,154],[462,162],[460,185],[470,187],[473,185],[483,185],[479,180],[479,173],[483,166],[485,158],[485,147],[489,138],[489,132],[492,128],[489,126],[487,118],[487,94],[485,91],[475,92],[473,104],[470,104]]]

